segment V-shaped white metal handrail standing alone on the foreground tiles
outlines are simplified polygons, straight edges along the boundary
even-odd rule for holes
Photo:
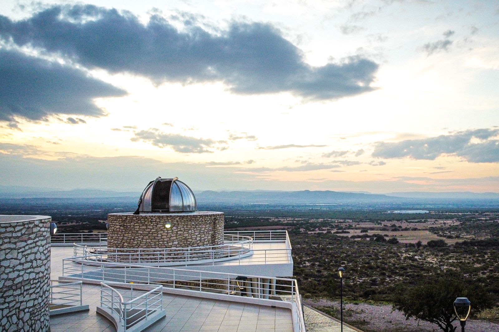
[[[118,290],[116,290],[114,287],[111,287],[110,285],[127,288],[127,290],[124,292],[125,294],[128,294],[128,289],[129,289],[130,300],[125,301],[123,299],[122,294]],[[144,319],[147,320],[148,317],[151,315],[152,311],[158,310],[158,308],[161,310],[163,308],[163,292],[162,292],[163,286],[162,285],[101,282],[100,286],[101,286],[101,293],[100,293],[101,306],[110,309],[111,312],[118,311],[118,315],[119,315],[118,324],[120,324],[124,328],[125,331],[132,324],[137,324],[138,322],[140,322]],[[143,291],[142,289],[137,290],[137,287],[139,287],[139,288],[154,287],[154,288],[152,290],[147,291],[144,294],[134,298],[133,297],[134,291],[135,292]],[[111,291],[111,293],[106,292],[104,290],[105,288],[109,289]],[[156,294],[152,295],[154,293],[156,293]],[[113,294],[116,294],[117,296],[113,296]],[[118,301],[114,301],[115,299],[117,299]],[[133,310],[137,310],[137,311],[135,313],[133,313]],[[128,320],[130,320],[130,319],[132,319],[132,318],[134,318],[134,317],[136,317],[144,312],[145,312],[144,316],[139,317],[137,320],[134,320],[133,322],[128,323]]]

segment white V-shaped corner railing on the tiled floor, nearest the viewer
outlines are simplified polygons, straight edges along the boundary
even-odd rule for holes
[[[118,291],[110,285],[125,288]],[[163,310],[162,285],[101,282],[100,286],[100,306],[108,309],[111,316],[118,315],[119,330],[144,325],[143,321]]]

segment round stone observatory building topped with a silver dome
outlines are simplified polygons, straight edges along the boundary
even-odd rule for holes
[[[149,182],[135,212],[107,215],[108,248],[188,248],[224,244],[224,213],[197,211],[177,177]]]

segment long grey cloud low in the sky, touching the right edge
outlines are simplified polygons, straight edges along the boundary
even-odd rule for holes
[[[375,143],[373,157],[435,160],[447,154],[462,157],[470,163],[499,162],[499,129],[477,129],[420,140]],[[476,138],[477,141],[472,139]]]

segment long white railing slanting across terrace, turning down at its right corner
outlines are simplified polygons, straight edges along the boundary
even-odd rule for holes
[[[298,285],[295,279],[185,270],[167,267],[151,267],[109,262],[92,262],[78,258],[63,260],[63,276],[91,282],[118,282],[127,284],[154,284],[164,288],[189,292],[217,293],[234,299],[247,296],[264,301],[283,302],[273,296],[283,296],[291,302],[295,332],[304,332],[304,321]],[[117,300],[116,300],[117,301]],[[116,302],[115,302],[116,303]]]

